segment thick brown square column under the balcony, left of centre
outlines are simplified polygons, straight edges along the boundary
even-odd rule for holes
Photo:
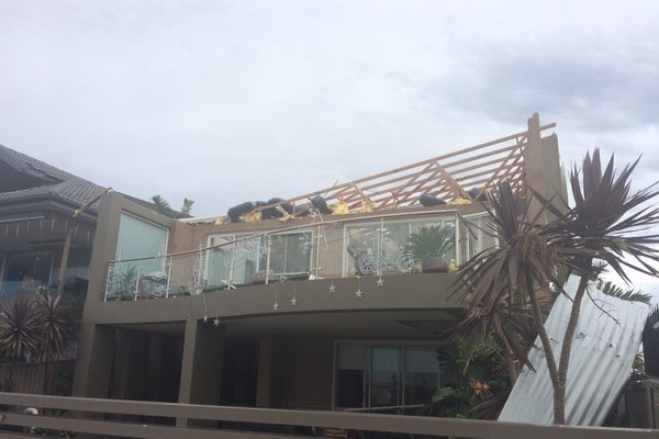
[[[197,319],[186,322],[179,403],[220,404],[224,333],[224,325]],[[178,418],[176,424],[179,427],[190,425],[186,418]],[[194,426],[200,423],[194,421]]]

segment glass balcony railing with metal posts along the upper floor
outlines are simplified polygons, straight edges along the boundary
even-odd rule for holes
[[[245,285],[453,271],[493,246],[485,217],[390,215],[258,234],[212,234],[208,247],[109,264],[105,300],[163,299]]]

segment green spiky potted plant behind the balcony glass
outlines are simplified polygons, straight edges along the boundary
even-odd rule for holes
[[[447,255],[455,246],[455,228],[453,226],[422,226],[410,235],[410,251],[416,261],[421,261],[424,273],[448,272]]]

